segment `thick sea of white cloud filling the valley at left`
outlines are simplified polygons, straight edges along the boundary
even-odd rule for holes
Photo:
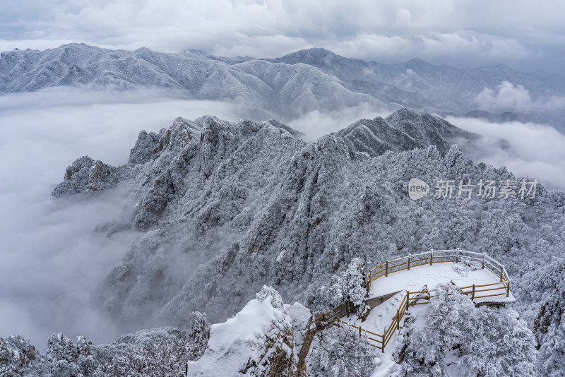
[[[99,198],[49,198],[64,169],[88,154],[127,162],[139,131],[158,131],[175,116],[235,119],[234,105],[183,101],[161,92],[55,88],[0,102],[0,336],[21,334],[45,347],[64,332],[96,342],[121,335],[90,302],[90,293],[138,239],[106,237],[96,225],[127,215],[126,193]],[[124,211],[124,212],[123,212]]]

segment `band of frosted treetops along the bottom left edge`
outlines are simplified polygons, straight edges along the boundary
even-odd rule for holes
[[[0,338],[0,376],[184,376],[186,362],[201,357],[210,333],[203,313],[191,318],[188,330],[141,330],[109,345],[53,334],[45,356],[19,335]]]

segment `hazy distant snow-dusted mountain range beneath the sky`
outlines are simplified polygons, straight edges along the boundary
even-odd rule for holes
[[[357,104],[393,111],[408,107],[441,116],[491,121],[536,121],[565,132],[565,110],[531,107],[484,111],[477,96],[496,93],[504,81],[528,90],[532,101],[564,97],[565,78],[509,66],[477,69],[434,66],[420,59],[403,64],[347,59],[326,49],[304,49],[277,59],[225,58],[198,50],[165,54],[64,44],[56,49],[2,52],[0,93],[31,92],[61,85],[167,88],[198,100],[237,101],[244,116],[289,121],[307,112]]]

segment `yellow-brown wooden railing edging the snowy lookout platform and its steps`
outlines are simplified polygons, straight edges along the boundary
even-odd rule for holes
[[[460,249],[432,250],[424,253],[408,254],[408,256],[402,258],[386,261],[381,265],[377,265],[372,270],[369,270],[364,282],[364,287],[366,287],[367,291],[369,291],[369,289],[371,289],[371,282],[374,282],[381,277],[387,277],[388,274],[398,273],[403,270],[410,270],[410,268],[415,268],[421,265],[433,265],[434,263],[446,262],[468,263],[469,261],[480,262],[481,268],[486,268],[487,270],[489,270],[493,275],[500,279],[500,282],[482,285],[473,284],[467,287],[460,287],[460,292],[462,294],[470,294],[471,300],[502,295],[509,297],[510,278],[508,276],[508,273],[506,273],[504,265],[487,256],[487,254],[485,253],[476,253],[474,251],[465,251]],[[501,290],[504,292],[499,292]],[[410,297],[411,295],[412,297]],[[429,304],[429,299],[431,299],[432,297],[434,296],[429,293],[427,286],[424,287],[424,289],[422,289],[421,291],[408,291],[405,294],[403,300],[400,301],[400,305],[398,306],[396,314],[391,321],[391,325],[388,325],[385,328],[383,334],[374,333],[362,328],[361,326],[352,325],[350,323],[342,321],[340,318],[348,316],[349,313],[351,313],[351,311],[354,309],[354,306],[352,305],[352,303],[350,303],[350,301],[345,301],[345,303],[335,307],[334,309],[331,309],[331,311],[321,314],[321,316],[317,317],[314,321],[316,322],[316,325],[319,329],[327,328],[340,323],[351,326],[352,328],[356,328],[357,330],[359,330],[359,336],[364,334],[364,336],[367,337],[369,345],[379,348],[382,352],[384,352],[384,349],[393,337],[395,330],[400,329],[400,321],[404,317],[406,311],[408,311],[408,308],[413,305]],[[427,301],[422,302],[420,300]]]

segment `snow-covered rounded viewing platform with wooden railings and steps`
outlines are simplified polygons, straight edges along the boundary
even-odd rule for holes
[[[384,352],[410,306],[429,304],[438,285],[455,286],[476,305],[504,305],[516,301],[510,283],[504,265],[486,253],[455,249],[408,254],[365,270],[369,310],[363,316],[345,301],[315,321],[320,330],[342,324],[356,328],[369,345]]]

